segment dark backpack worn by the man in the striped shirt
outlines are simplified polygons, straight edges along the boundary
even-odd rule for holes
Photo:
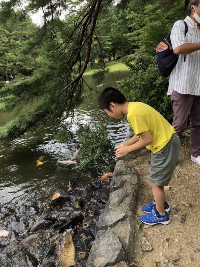
[[[185,24],[185,36],[186,36],[188,32],[188,26],[184,20],[183,22]],[[162,52],[158,52],[156,56],[158,70],[162,77],[167,77],[171,74],[172,70],[176,66],[179,59],[179,55],[173,53],[170,35],[163,37],[163,43],[165,43],[168,46],[168,49]],[[155,51],[153,52],[153,55],[156,55]],[[186,56],[184,57],[184,62],[185,58]]]

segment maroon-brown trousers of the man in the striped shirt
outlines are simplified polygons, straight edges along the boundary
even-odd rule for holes
[[[187,129],[188,116],[190,120],[190,149],[192,156],[200,156],[200,96],[180,94],[173,91],[171,94],[171,105],[174,111],[172,126],[181,139]]]

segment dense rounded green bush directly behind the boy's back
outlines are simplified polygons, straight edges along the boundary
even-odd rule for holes
[[[147,69],[132,71],[129,78],[121,81],[119,89],[125,95],[127,101],[146,103],[169,121],[173,117],[173,110],[170,97],[167,96],[168,84],[169,78],[163,78],[159,75],[154,61]]]

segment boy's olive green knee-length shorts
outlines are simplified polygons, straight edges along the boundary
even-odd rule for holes
[[[167,186],[175,169],[180,152],[180,139],[174,133],[169,143],[159,152],[151,151],[149,181],[157,186]]]

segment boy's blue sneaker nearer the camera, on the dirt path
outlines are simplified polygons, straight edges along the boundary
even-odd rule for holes
[[[144,224],[148,224],[148,225],[154,225],[154,224],[166,225],[170,223],[168,213],[165,212],[165,216],[161,216],[157,212],[156,208],[153,208],[151,210],[151,213],[140,216],[140,220]]]

